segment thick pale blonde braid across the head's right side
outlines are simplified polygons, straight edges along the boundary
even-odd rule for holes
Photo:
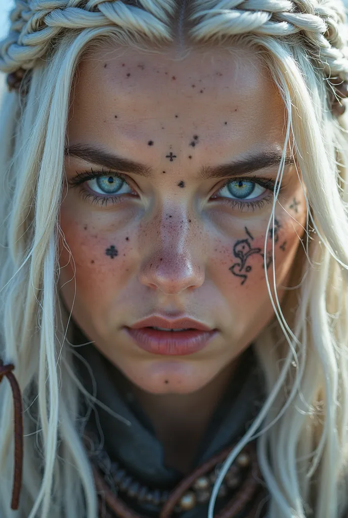
[[[301,46],[327,77],[348,79],[347,28],[344,9],[308,0],[196,0],[191,34],[197,41],[253,32],[287,38],[298,35]],[[295,41],[294,41],[295,42]]]

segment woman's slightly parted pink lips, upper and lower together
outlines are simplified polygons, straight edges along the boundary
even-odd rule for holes
[[[167,327],[168,329],[190,328],[185,331],[160,331],[149,326]],[[216,329],[192,320],[182,318],[170,320],[153,316],[137,322],[132,327],[125,327],[137,346],[152,354],[183,356],[200,351],[209,340],[218,333]]]

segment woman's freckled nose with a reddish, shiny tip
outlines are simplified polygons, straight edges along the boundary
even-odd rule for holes
[[[201,286],[205,280],[202,262],[201,239],[196,240],[190,230],[189,220],[176,218],[147,234],[148,246],[139,271],[142,284],[164,294],[179,294]],[[200,242],[200,244],[199,244]],[[144,243],[145,244],[145,243]]]

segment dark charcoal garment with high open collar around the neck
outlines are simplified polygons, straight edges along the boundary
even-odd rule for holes
[[[84,337],[80,337],[78,343],[85,341]],[[139,483],[153,489],[171,491],[183,478],[183,474],[165,466],[162,444],[155,437],[146,414],[137,404],[132,392],[129,391],[130,382],[93,344],[81,346],[76,351],[91,366],[97,385],[97,399],[132,423],[129,426],[96,405],[98,415],[96,416],[95,412],[92,412],[86,430],[89,431],[89,434],[95,435],[97,444],[100,443],[100,429],[103,430],[104,449],[111,461],[119,462],[127,473]],[[92,381],[88,369],[78,358],[75,359],[75,363],[81,382],[92,394]],[[192,470],[207,461],[212,455],[231,445],[245,433],[258,408],[262,405],[263,387],[263,375],[256,363],[253,349],[250,347],[243,353],[238,372],[231,380],[220,404],[212,415]],[[217,499],[215,512],[222,509],[229,498],[230,496]],[[126,497],[124,500],[138,513],[158,516],[160,507],[150,503],[140,504],[135,499]],[[249,508],[243,510],[238,518],[243,518],[248,510]],[[199,504],[190,511],[180,513],[179,517],[202,518],[207,514],[208,504]]]

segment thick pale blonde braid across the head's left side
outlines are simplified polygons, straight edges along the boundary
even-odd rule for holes
[[[141,7],[121,0],[16,0],[8,37],[0,44],[0,70],[30,69],[52,41],[66,30],[118,26],[151,39],[168,39],[168,16],[174,5],[140,0]]]

